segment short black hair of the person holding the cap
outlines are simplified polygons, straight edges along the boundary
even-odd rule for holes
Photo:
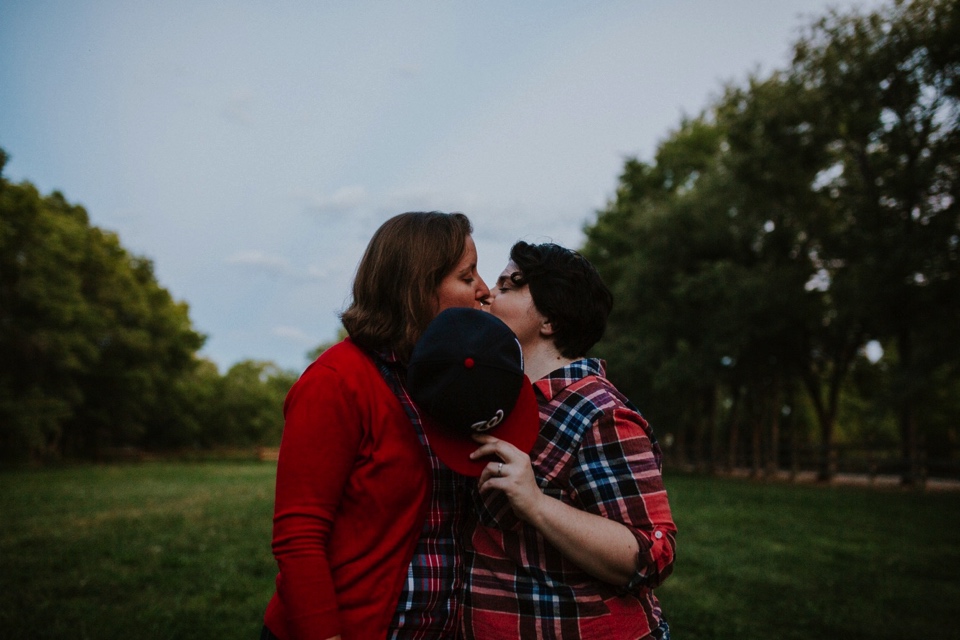
[[[552,243],[520,241],[510,249],[519,272],[512,280],[529,286],[537,311],[553,325],[553,341],[565,358],[579,358],[607,328],[613,295],[582,255]]]

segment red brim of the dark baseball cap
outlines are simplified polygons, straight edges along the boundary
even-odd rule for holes
[[[427,442],[440,461],[459,474],[479,477],[492,457],[471,460],[470,454],[480,445],[469,434],[453,432],[423,417],[423,431]],[[540,408],[529,378],[523,377],[523,385],[513,411],[500,424],[485,433],[509,442],[524,453],[530,453],[540,432]]]

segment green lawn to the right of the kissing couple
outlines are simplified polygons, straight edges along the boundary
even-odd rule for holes
[[[677,640],[960,638],[960,492],[671,477]]]

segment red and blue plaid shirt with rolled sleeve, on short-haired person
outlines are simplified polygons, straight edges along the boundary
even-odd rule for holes
[[[653,594],[673,570],[676,526],[663,487],[660,447],[646,420],[604,377],[578,360],[534,383],[540,435],[530,457],[540,488],[578,509],[626,525],[640,546],[626,585],[606,584],[569,562],[520,521],[502,493],[468,521],[466,638],[662,638]]]

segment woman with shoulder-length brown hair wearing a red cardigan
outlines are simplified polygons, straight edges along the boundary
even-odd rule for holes
[[[455,638],[465,511],[406,390],[413,347],[444,309],[479,309],[467,217],[411,212],[374,233],[324,351],[284,403],[264,640]]]

